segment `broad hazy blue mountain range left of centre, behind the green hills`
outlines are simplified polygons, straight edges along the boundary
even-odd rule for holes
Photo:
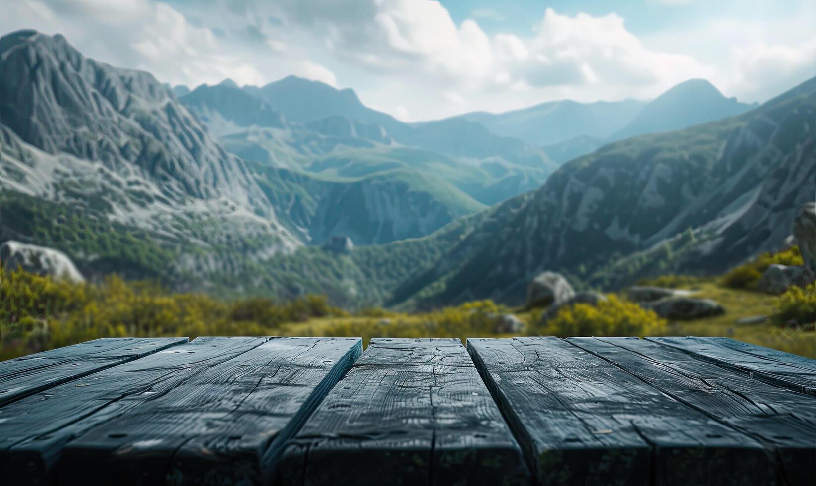
[[[478,123],[411,126],[366,108],[352,90],[301,78],[240,90],[204,85],[180,100],[233,154],[334,181],[400,168],[491,205],[539,187],[557,167],[543,149]]]

